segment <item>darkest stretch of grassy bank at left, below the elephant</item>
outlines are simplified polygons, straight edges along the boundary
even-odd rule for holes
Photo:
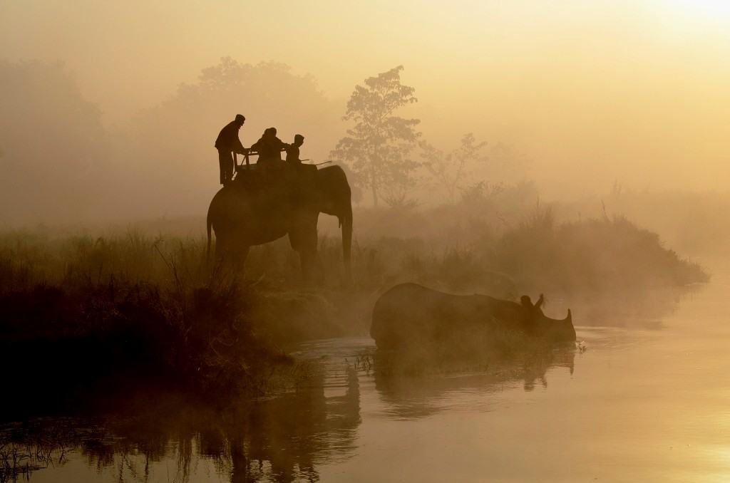
[[[264,323],[286,316],[266,312],[270,297],[234,269],[212,270],[201,240],[6,234],[0,350],[47,374],[49,392],[118,375],[110,384],[261,393],[272,367],[293,363]],[[302,306],[327,316],[315,295],[291,297],[292,312]]]

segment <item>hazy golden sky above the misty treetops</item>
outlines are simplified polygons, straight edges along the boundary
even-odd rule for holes
[[[511,142],[554,190],[726,190],[729,27],[711,0],[0,0],[0,58],[65,61],[112,128],[223,56],[343,104],[402,64],[443,150]]]

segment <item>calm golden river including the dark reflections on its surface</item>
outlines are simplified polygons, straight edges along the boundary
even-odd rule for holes
[[[537,371],[388,378],[372,339],[334,339],[301,348],[307,384],[239,408],[4,425],[0,482],[727,482],[729,275],[572,305],[583,343]]]

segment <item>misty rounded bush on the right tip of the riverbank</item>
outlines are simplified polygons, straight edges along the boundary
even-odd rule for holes
[[[550,209],[537,211],[520,227],[504,233],[493,261],[525,285],[565,291],[709,280],[699,264],[680,258],[664,247],[657,233],[625,217],[556,225]]]

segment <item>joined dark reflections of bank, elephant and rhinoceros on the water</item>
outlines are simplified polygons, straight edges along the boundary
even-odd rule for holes
[[[104,417],[4,425],[0,483],[31,475],[40,482],[79,481],[64,476],[71,474],[67,471],[57,472],[69,466],[82,468],[87,479],[107,482],[189,482],[201,475],[231,483],[317,482],[320,468],[361,451],[363,409],[372,414],[375,407],[385,408],[381,414],[388,419],[413,420],[469,403],[471,394],[481,405],[476,409],[488,411],[497,403],[490,393],[547,387],[551,368],[572,374],[576,350],[525,352],[470,374],[426,377],[394,374],[398,360],[377,353],[369,339],[366,344],[362,339],[326,341],[310,354],[321,359],[321,370],[296,392],[275,398],[214,408],[140,394],[121,404],[127,410]],[[361,407],[363,388],[366,408]]]

